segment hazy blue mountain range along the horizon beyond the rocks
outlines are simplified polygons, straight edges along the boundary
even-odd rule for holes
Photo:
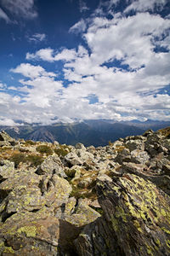
[[[120,137],[142,134],[147,129],[156,131],[170,126],[168,121],[138,120],[115,122],[113,120],[98,119],[84,120],[73,123],[56,123],[54,125],[24,124],[20,126],[0,126],[0,131],[7,131],[16,139],[44,141],[61,144],[83,143],[86,147],[105,146],[109,141],[114,142]]]

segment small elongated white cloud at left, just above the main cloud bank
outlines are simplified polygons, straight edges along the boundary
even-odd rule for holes
[[[37,77],[55,77],[56,74],[52,72],[46,72],[41,66],[33,66],[29,63],[21,63],[18,67],[10,70],[13,73],[21,73],[27,78],[35,79]]]

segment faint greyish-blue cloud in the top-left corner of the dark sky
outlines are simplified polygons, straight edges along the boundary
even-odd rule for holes
[[[37,11],[34,8],[34,0],[1,0],[3,8],[8,9],[12,15],[21,16],[26,19],[37,17]]]

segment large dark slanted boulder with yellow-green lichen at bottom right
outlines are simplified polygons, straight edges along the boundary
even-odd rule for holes
[[[168,195],[153,183],[130,174],[113,181],[100,178],[97,192],[104,215],[78,237],[80,255],[169,255]]]

